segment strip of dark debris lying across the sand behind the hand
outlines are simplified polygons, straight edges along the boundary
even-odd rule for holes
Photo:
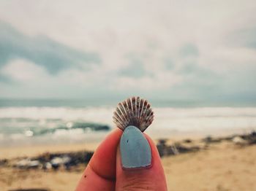
[[[202,149],[207,149],[210,144],[217,144],[222,141],[230,141],[234,145],[239,147],[245,147],[252,144],[256,144],[256,132],[241,135],[225,136],[221,138],[214,138],[207,136],[200,142],[202,144],[196,144],[191,139],[184,139],[183,141],[174,142],[173,144],[167,144],[167,139],[159,139],[157,143],[157,149],[160,157],[180,155],[188,152],[198,152]],[[23,157],[12,160],[2,159],[0,160],[0,166],[11,166],[14,168],[30,169],[38,168],[45,171],[65,169],[72,171],[74,167],[78,165],[85,165],[89,163],[94,152],[80,151],[80,152],[59,152],[59,153],[44,153],[37,157]],[[15,162],[14,162],[15,161]]]

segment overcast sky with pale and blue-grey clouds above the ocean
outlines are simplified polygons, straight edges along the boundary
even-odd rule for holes
[[[0,0],[0,98],[254,102],[255,9],[250,0]]]

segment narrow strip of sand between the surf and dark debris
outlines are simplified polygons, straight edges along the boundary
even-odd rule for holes
[[[233,129],[233,130],[210,130],[202,132],[181,132],[181,131],[172,131],[172,130],[162,130],[161,133],[154,133],[151,130],[148,130],[146,134],[151,136],[151,139],[157,144],[159,139],[168,139],[171,142],[181,141],[183,139],[203,139],[206,136],[212,137],[224,137],[224,136],[233,136],[237,134],[244,134],[252,132],[254,128],[247,129]],[[78,152],[80,150],[88,150],[93,152],[102,140],[105,139],[105,136],[108,136],[110,131],[105,134],[100,135],[100,139],[80,141],[78,143],[53,143],[53,142],[44,142],[42,143],[26,143],[21,145],[0,145],[0,159],[11,159],[13,157],[34,157],[36,155],[42,155],[45,152]]]

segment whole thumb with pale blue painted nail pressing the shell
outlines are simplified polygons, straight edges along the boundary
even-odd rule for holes
[[[116,155],[116,190],[167,190],[157,147],[138,128],[124,130]]]

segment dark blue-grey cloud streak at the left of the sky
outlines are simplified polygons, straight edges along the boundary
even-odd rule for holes
[[[43,66],[50,74],[72,67],[89,69],[91,64],[101,63],[97,53],[75,50],[47,36],[26,36],[0,22],[0,66],[17,58]]]

